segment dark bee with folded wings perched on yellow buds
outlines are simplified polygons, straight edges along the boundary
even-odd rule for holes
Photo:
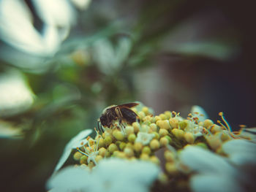
[[[102,115],[98,119],[98,129],[102,129],[102,126],[103,128],[111,128],[114,120],[118,120],[119,124],[123,127],[123,123],[132,124],[133,122],[137,121],[139,119],[138,115],[130,109],[137,105],[138,103],[128,103],[111,105],[110,107],[105,108],[105,110],[102,111]]]

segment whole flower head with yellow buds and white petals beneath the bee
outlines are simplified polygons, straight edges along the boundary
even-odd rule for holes
[[[255,189],[251,184],[256,165],[254,129],[246,130],[246,134],[244,130],[232,131],[223,112],[219,112],[223,123],[218,120],[218,126],[209,119],[200,121],[197,111],[184,119],[176,112],[154,116],[147,107],[132,110],[138,114],[137,122],[120,125],[116,120],[113,127],[102,133],[95,129],[94,139],[87,137],[81,143],[80,137],[73,156],[80,166],[57,172],[49,180],[48,188],[148,191],[158,175],[153,191],[161,190],[164,183],[163,188],[173,191]],[[126,134],[121,133],[122,126]],[[67,156],[72,147],[68,149]]]

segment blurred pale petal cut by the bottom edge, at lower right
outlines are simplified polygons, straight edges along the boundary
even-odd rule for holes
[[[197,174],[190,179],[190,187],[195,192],[241,192],[243,189],[233,177],[225,174]]]

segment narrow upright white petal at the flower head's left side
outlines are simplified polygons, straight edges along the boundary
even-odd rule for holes
[[[92,132],[91,129],[86,129],[86,130],[80,131],[80,133],[77,136],[73,137],[68,142],[68,144],[64,148],[64,152],[62,153],[58,164],[56,165],[56,167],[54,169],[54,172],[57,172],[59,169],[61,169],[61,166],[63,166],[63,164],[67,161],[67,158],[69,158],[69,155],[72,152],[72,149],[74,149],[76,147],[80,147],[81,141],[83,141],[84,145],[86,144],[87,140],[85,141],[82,139],[89,136],[89,134],[91,134],[91,132]]]

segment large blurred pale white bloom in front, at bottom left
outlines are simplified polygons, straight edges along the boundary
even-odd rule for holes
[[[146,192],[157,179],[159,167],[146,161],[108,158],[91,171],[69,166],[48,180],[52,191]]]

